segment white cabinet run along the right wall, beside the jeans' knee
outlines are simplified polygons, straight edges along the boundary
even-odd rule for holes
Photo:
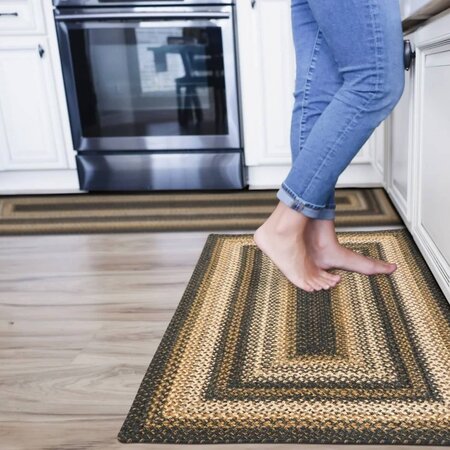
[[[450,300],[450,11],[405,34],[416,51],[387,126],[387,190]]]

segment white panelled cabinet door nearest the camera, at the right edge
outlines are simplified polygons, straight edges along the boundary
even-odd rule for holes
[[[450,299],[450,12],[415,35],[412,229]]]

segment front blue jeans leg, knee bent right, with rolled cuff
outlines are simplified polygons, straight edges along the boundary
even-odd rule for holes
[[[280,197],[290,198],[293,209],[318,218],[339,175],[403,93],[403,34],[396,0],[308,4],[344,81],[310,130]],[[311,76],[320,85],[328,74],[313,71]]]

